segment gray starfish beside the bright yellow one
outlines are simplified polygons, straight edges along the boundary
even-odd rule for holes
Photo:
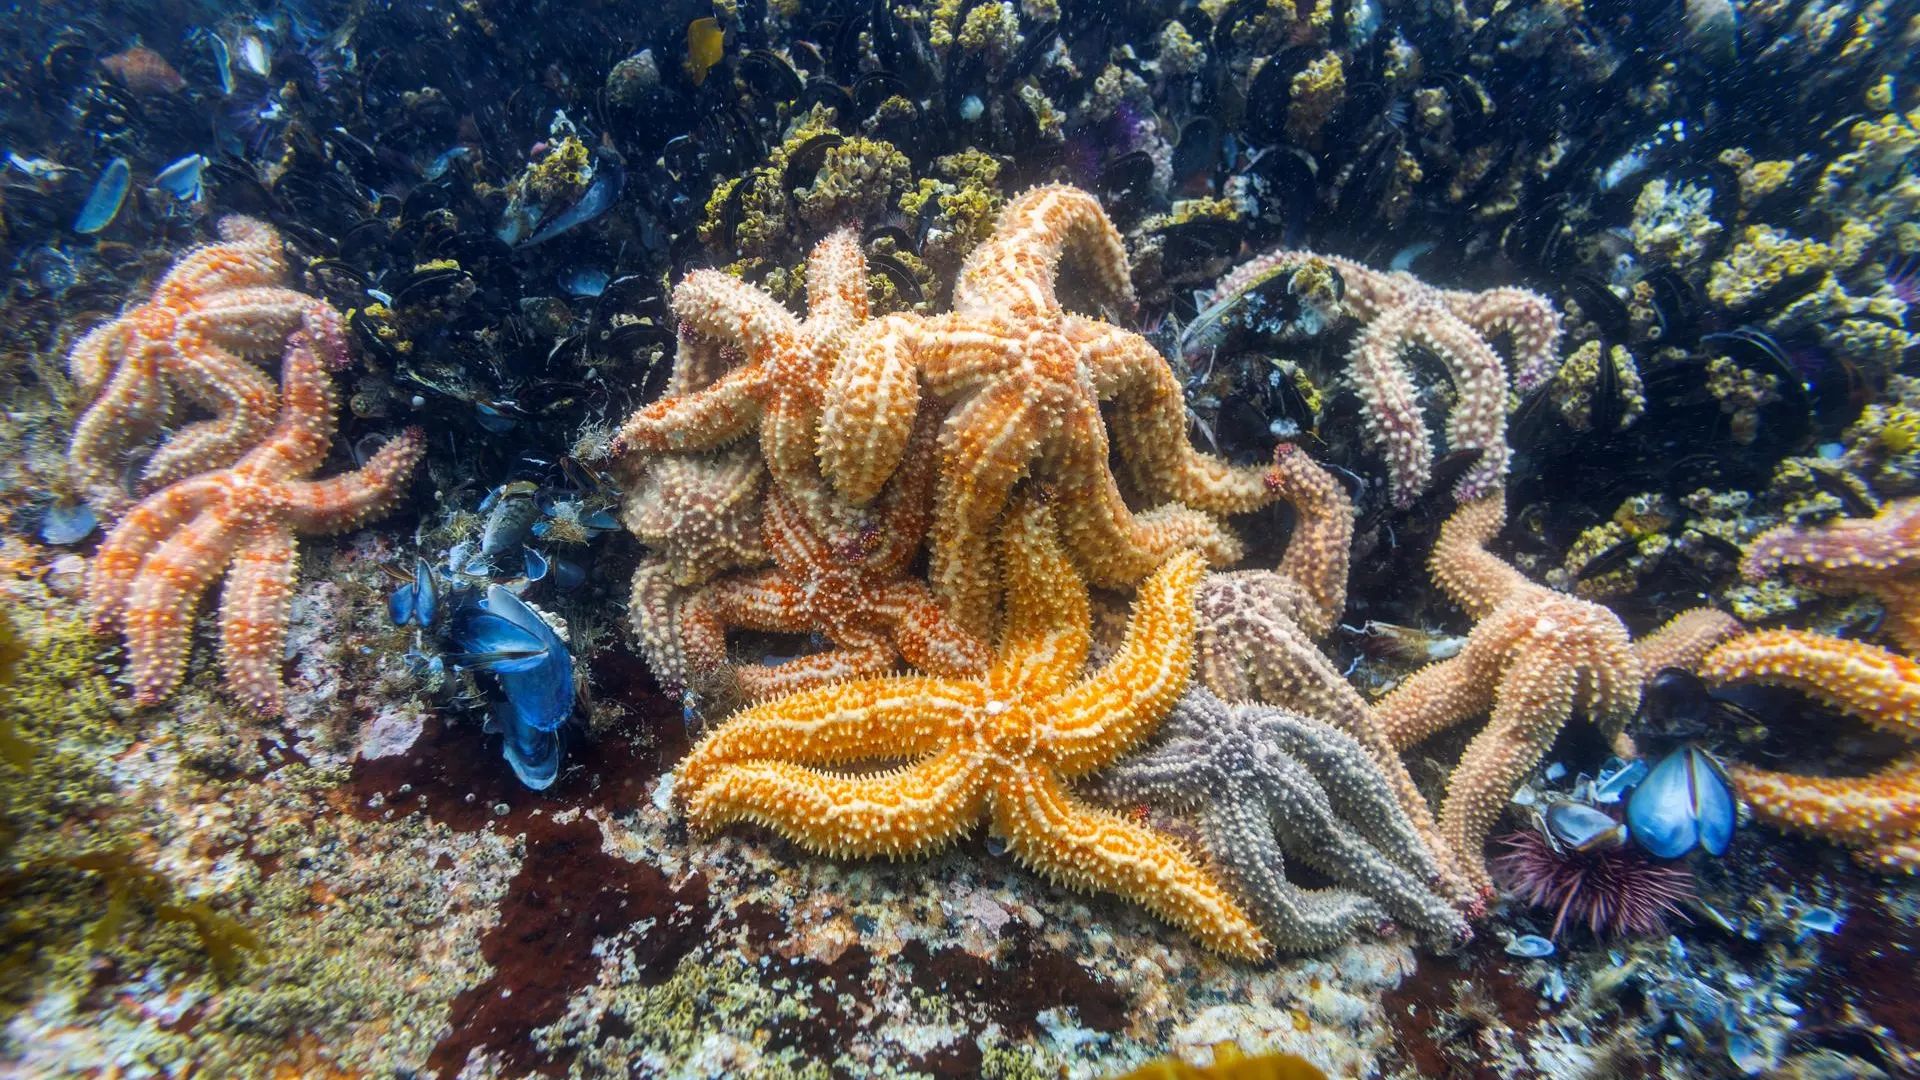
[[[1440,867],[1367,749],[1275,705],[1229,705],[1192,688],[1160,738],[1110,769],[1106,794],[1198,811],[1213,863],[1283,951],[1346,942],[1394,919],[1442,947],[1471,938],[1436,892]],[[1286,880],[1284,855],[1342,888]]]

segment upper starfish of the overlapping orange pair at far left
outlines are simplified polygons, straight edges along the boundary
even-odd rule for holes
[[[173,384],[211,409],[211,421],[173,432],[146,461],[159,488],[236,461],[273,427],[278,398],[253,359],[278,356],[301,331],[326,363],[344,367],[340,313],[324,300],[280,288],[280,234],[252,217],[223,217],[221,242],[180,256],[154,296],[75,342],[67,367],[92,398],[73,429],[75,479],[104,511],[131,502],[123,455],[173,417]]]

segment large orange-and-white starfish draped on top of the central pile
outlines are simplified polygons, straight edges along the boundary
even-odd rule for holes
[[[995,605],[989,538],[1023,477],[1046,484],[1075,565],[1104,588],[1140,580],[1177,550],[1235,561],[1238,542],[1208,513],[1269,500],[1258,469],[1192,450],[1179,380],[1144,338],[1062,309],[1054,275],[1068,252],[1104,296],[1131,302],[1127,252],[1100,202],[1041,186],[1010,202],[968,256],[952,313],[870,323],[828,379],[820,463],[854,503],[900,463],[922,392],[950,404],[929,578],[975,632]],[[1165,505],[1129,509],[1108,465],[1102,404],[1137,494]]]

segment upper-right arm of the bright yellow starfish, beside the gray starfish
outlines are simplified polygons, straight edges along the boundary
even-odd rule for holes
[[[1181,553],[1140,584],[1114,659],[1054,700],[1043,744],[1066,776],[1085,776],[1131,749],[1173,707],[1192,676],[1194,592],[1206,563]]]

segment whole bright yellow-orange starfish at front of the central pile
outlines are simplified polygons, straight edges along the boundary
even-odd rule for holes
[[[1117,892],[1215,951],[1263,955],[1265,938],[1200,863],[1068,788],[1146,738],[1187,688],[1204,563],[1177,553],[1142,582],[1125,642],[1083,678],[1089,596],[1050,509],[1016,503],[1000,548],[1006,626],[985,675],[858,678],[745,709],[680,763],[687,819],[755,821],[837,855],[916,855],[987,817],[1050,878]],[[841,771],[902,757],[885,773]]]

